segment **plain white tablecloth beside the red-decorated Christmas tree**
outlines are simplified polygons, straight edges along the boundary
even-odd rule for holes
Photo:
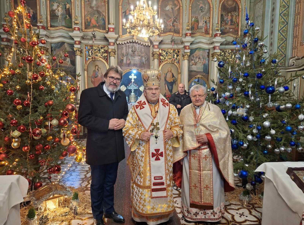
[[[26,196],[29,183],[20,175],[0,176],[0,225],[20,225],[19,203]]]

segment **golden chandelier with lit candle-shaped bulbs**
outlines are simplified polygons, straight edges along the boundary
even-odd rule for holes
[[[134,11],[133,5],[131,5],[131,10],[132,16],[130,15],[127,21],[123,19],[123,28],[127,30],[128,34],[147,40],[148,37],[163,33],[162,19],[157,18],[156,5],[152,9],[151,1],[149,1],[148,7],[146,0],[140,0]]]

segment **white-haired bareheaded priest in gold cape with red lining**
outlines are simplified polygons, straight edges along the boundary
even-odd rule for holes
[[[224,215],[224,192],[234,189],[230,130],[218,106],[205,101],[206,88],[190,89],[192,104],[181,110],[181,212],[186,221],[216,222]],[[175,170],[174,170],[175,174]],[[181,173],[179,173],[181,174]],[[181,179],[181,180],[180,180]]]

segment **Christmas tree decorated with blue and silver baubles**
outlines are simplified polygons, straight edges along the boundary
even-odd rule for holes
[[[208,97],[226,117],[236,176],[245,180],[243,185],[248,181],[246,188],[251,190],[264,180],[263,173],[254,172],[260,164],[302,152],[304,104],[295,92],[301,75],[285,79],[276,55],[268,54],[259,36],[260,28],[247,13],[245,20],[244,37],[232,43],[234,57],[217,62],[218,82],[213,81],[217,89],[212,87]]]

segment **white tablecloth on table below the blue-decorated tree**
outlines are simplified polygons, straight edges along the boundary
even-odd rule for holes
[[[265,172],[262,225],[299,225],[304,211],[304,193],[286,173],[304,162],[267,162],[255,171]]]

